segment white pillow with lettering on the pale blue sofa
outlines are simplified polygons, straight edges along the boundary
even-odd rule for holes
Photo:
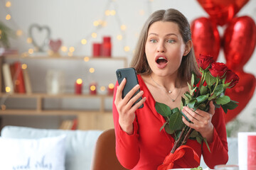
[[[0,137],[0,169],[64,170],[65,135],[36,140]]]

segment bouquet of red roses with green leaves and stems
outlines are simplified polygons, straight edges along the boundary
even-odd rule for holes
[[[237,74],[228,69],[225,64],[214,62],[211,56],[200,55],[198,67],[201,78],[196,77],[194,73],[192,74],[191,82],[188,83],[189,91],[181,98],[180,109],[171,109],[164,103],[158,102],[155,105],[156,111],[166,119],[166,123],[160,128],[160,131],[164,128],[175,139],[171,154],[174,154],[181,145],[185,145],[188,138],[197,140],[200,144],[204,141],[208,146],[206,139],[199,132],[183,123],[182,115],[186,118],[186,115],[181,112],[183,106],[193,108],[194,111],[199,108],[207,112],[210,101],[213,101],[215,108],[222,107],[225,113],[238,106],[238,102],[232,101],[229,96],[225,96],[225,90],[233,88],[238,83],[239,77]],[[188,120],[188,118],[186,119]],[[209,147],[208,149],[210,151]]]

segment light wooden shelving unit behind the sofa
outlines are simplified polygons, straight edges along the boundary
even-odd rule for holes
[[[107,62],[122,62],[123,67],[128,66],[127,57],[90,57],[90,56],[26,56],[23,55],[6,55],[0,57],[0,65],[4,64],[4,62],[13,62],[13,60],[19,60],[20,62],[28,62],[28,63],[41,63],[41,60],[47,60],[47,62],[51,62],[50,60],[57,60],[54,62],[58,62],[59,60],[65,61],[65,63],[69,62],[90,62],[90,61],[99,61],[102,62],[103,67],[105,63]],[[44,62],[44,61],[43,61]],[[96,63],[97,63],[96,62]],[[88,64],[94,64],[94,63],[88,63]],[[111,63],[115,64],[115,63]],[[87,65],[87,64],[85,64]],[[80,65],[81,67],[81,65]],[[82,65],[84,67],[84,64]],[[38,71],[37,67],[33,67],[34,70]],[[68,69],[68,68],[65,68]],[[80,72],[80,69],[78,70]],[[110,107],[105,107],[105,103],[109,102],[108,100],[112,99],[112,95],[108,94],[96,94],[96,95],[90,95],[90,94],[72,94],[72,93],[65,93],[65,94],[47,94],[47,93],[31,93],[31,94],[7,94],[4,91],[3,88],[3,77],[2,77],[2,70],[0,69],[0,98],[14,98],[14,101],[16,103],[11,103],[13,105],[6,106],[6,108],[3,108],[1,110],[0,108],[0,115],[75,115],[78,118],[78,129],[80,130],[87,130],[87,129],[100,129],[105,130],[107,128],[113,127],[113,120],[112,120],[112,111]],[[105,75],[106,76],[106,75]],[[38,91],[44,91],[44,89],[39,89]],[[17,98],[17,100],[15,99]],[[97,101],[97,107],[87,107],[87,106],[70,106],[68,108],[60,107],[57,108],[54,106],[47,105],[47,101],[51,101],[55,98],[60,98],[60,100],[63,100],[64,103],[69,98],[70,101],[82,101],[81,99],[96,99]],[[26,105],[22,106],[23,103],[19,102],[26,102],[26,101],[32,101],[31,103],[28,103],[28,107],[26,108]],[[86,101],[86,100],[85,100]],[[9,101],[12,102],[12,101]],[[92,101],[94,102],[94,101]],[[17,104],[17,105],[16,105]],[[54,103],[53,103],[54,105]],[[20,107],[21,106],[21,107]],[[31,108],[32,106],[32,108]],[[8,108],[9,107],[9,108]],[[24,108],[25,107],[25,108]]]

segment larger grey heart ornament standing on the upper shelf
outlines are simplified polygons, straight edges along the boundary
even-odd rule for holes
[[[44,47],[48,45],[48,41],[50,40],[50,28],[48,28],[48,26],[33,24],[29,27],[28,33],[35,49],[38,50],[38,52],[43,52]]]

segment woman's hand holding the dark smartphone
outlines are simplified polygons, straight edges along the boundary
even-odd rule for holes
[[[135,119],[135,111],[142,106],[146,98],[142,98],[138,103],[134,104],[140,97],[142,97],[143,91],[140,91],[137,95],[134,94],[139,90],[139,84],[134,86],[129,93],[122,98],[122,91],[124,90],[124,86],[127,83],[127,79],[123,79],[121,84],[117,87],[117,94],[114,100],[114,104],[117,107],[117,111],[119,113],[119,125],[127,132],[127,134],[132,135],[133,133],[133,125]],[[134,96],[134,97],[132,97]]]

